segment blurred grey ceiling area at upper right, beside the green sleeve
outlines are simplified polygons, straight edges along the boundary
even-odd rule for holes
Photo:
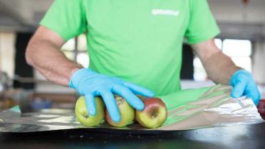
[[[265,40],[265,0],[208,0],[222,33],[220,38]]]

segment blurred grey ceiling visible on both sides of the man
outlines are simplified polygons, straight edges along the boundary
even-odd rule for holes
[[[264,38],[265,0],[208,0],[223,37]],[[53,0],[0,0],[0,31],[33,31]]]

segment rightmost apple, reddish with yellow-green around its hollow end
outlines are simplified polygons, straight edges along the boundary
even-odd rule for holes
[[[135,117],[140,125],[147,128],[157,128],[167,119],[167,108],[160,98],[139,96],[145,104],[145,109],[135,111]]]

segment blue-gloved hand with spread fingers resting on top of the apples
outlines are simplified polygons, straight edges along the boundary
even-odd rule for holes
[[[88,114],[95,115],[94,96],[102,96],[103,101],[109,111],[113,121],[120,121],[120,112],[114,99],[113,93],[123,96],[123,98],[137,110],[144,109],[145,105],[135,94],[142,96],[154,96],[154,93],[139,87],[133,83],[125,82],[117,77],[108,77],[100,75],[93,70],[80,69],[77,70],[69,82],[69,87],[76,89],[81,95],[85,96],[85,104]]]

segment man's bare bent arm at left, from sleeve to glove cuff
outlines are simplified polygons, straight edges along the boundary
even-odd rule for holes
[[[68,86],[73,72],[82,66],[63,55],[60,49],[64,43],[57,33],[40,26],[28,43],[26,61],[52,82]]]

